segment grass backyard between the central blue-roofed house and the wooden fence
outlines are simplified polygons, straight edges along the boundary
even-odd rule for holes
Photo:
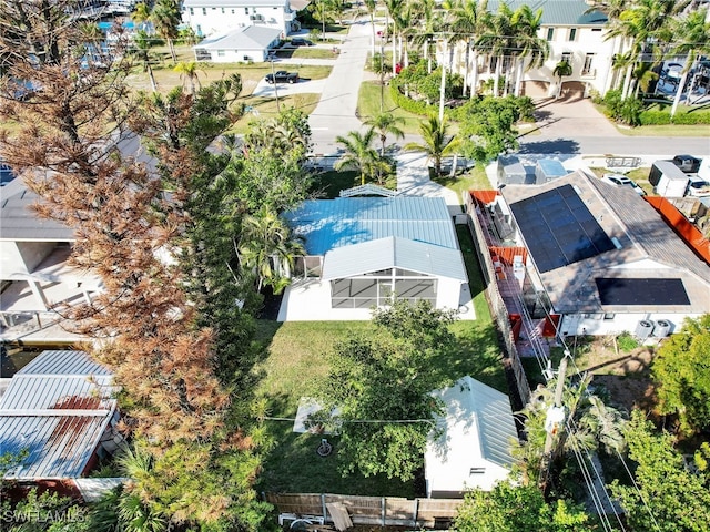
[[[466,226],[457,226],[464,259],[474,295],[477,319],[458,320],[453,331],[462,341],[462,350],[454,359],[442,361],[450,379],[465,375],[507,392],[497,331],[491,321],[484,295],[483,279]],[[351,332],[366,331],[369,321],[261,321],[260,339],[268,345],[268,358],[258,368],[264,378],[258,395],[268,402],[270,417],[293,418],[298,399],[308,396],[316,379],[328,371],[328,354],[333,345]],[[384,477],[341,477],[337,463],[337,438],[334,453],[327,458],[316,454],[321,437],[292,432],[293,421],[268,420],[266,428],[274,448],[266,457],[260,489],[291,493],[343,493],[362,495],[415,495],[414,483],[403,483]]]

